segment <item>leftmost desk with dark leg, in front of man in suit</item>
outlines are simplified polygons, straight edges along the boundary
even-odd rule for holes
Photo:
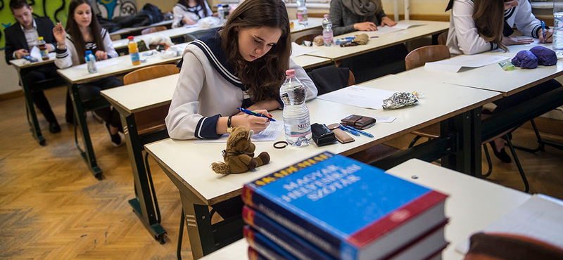
[[[20,77],[20,82],[22,84],[23,93],[25,94],[25,109],[27,110],[27,122],[30,124],[31,128],[30,131],[32,132],[33,137],[39,145],[45,145],[45,138],[41,134],[41,128],[39,127],[39,121],[37,120],[37,114],[35,113],[35,107],[33,105],[33,100],[31,97],[32,91],[42,91],[44,89],[49,89],[53,86],[60,86],[64,84],[64,82],[58,79],[48,79],[48,84],[34,84],[34,86],[30,86],[27,84],[25,80],[25,74],[33,70],[34,67],[40,65],[46,65],[49,63],[53,63],[55,60],[56,53],[52,52],[49,53],[49,60],[39,60],[37,63],[30,63],[25,59],[15,59],[10,60],[11,65],[15,68],[18,72],[18,77]],[[31,89],[31,87],[33,89]]]

